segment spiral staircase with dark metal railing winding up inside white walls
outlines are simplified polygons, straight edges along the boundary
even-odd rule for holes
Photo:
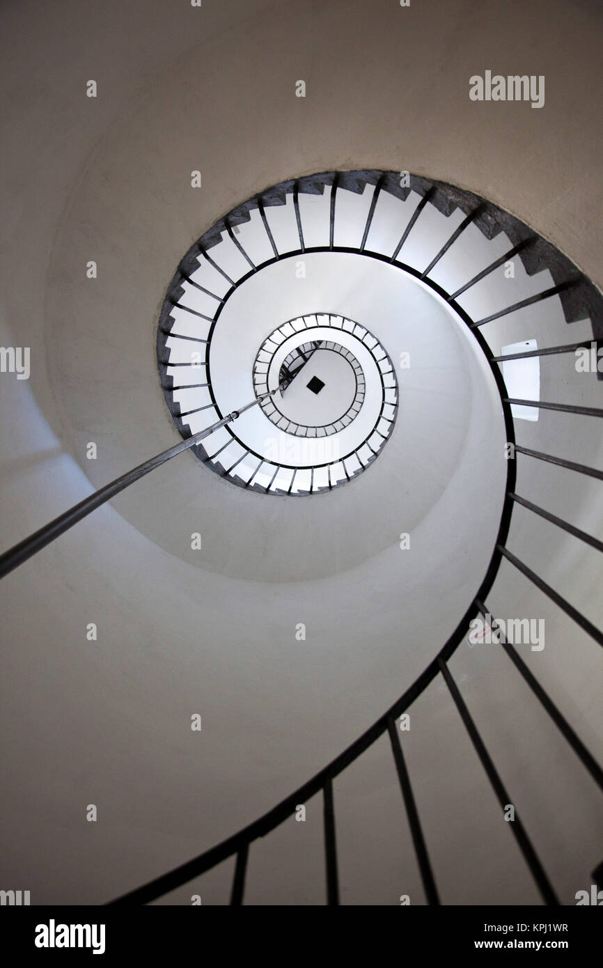
[[[539,392],[528,399],[514,398],[508,395],[502,377],[503,365],[508,366],[511,361],[537,358],[544,366],[547,357],[563,355],[566,364],[564,381],[571,382],[572,369],[574,373],[577,369],[574,366],[576,353],[584,351],[585,340],[572,341],[570,336],[568,342],[556,341],[563,339],[567,324],[588,317],[592,327],[592,347],[598,350],[602,345],[600,341],[603,337],[603,301],[595,287],[567,257],[562,256],[526,225],[501,211],[497,206],[453,186],[432,182],[425,178],[412,176],[407,178],[407,182],[409,185],[403,187],[404,178],[395,172],[325,172],[317,176],[285,182],[230,212],[224,220],[198,240],[193,250],[183,259],[174,276],[158,333],[160,372],[164,380],[168,406],[177,426],[186,438],[199,429],[204,429],[212,421],[222,419],[226,412],[226,408],[221,408],[218,404],[217,392],[212,382],[212,339],[216,327],[220,324],[220,314],[226,300],[238,287],[244,286],[250,278],[256,273],[261,273],[267,266],[286,262],[286,259],[298,260],[311,257],[314,254],[322,258],[326,256],[328,259],[330,254],[346,253],[360,259],[374,259],[377,262],[393,265],[419,285],[429,286],[463,320],[486,356],[500,394],[506,445],[513,448],[511,459],[507,460],[506,464],[506,494],[497,541],[484,580],[474,599],[468,604],[467,612],[453,634],[424,673],[393,707],[339,757],[255,823],[195,860],[125,895],[116,903],[151,901],[234,855],[236,864],[230,903],[241,904],[248,855],[256,839],[265,836],[290,818],[298,808],[298,804],[307,802],[321,793],[327,903],[338,904],[340,895],[333,781],[373,742],[385,734],[391,741],[393,761],[400,781],[408,827],[412,835],[425,896],[428,903],[439,903],[437,877],[429,860],[428,845],[422,832],[419,812],[412,793],[403,752],[404,733],[400,732],[400,728],[404,730],[401,717],[412,709],[417,697],[437,677],[441,677],[450,691],[474,751],[495,791],[500,809],[504,811],[509,804],[513,803],[448,666],[448,660],[467,636],[467,628],[475,615],[483,617],[486,622],[492,621],[495,631],[498,627],[502,629],[498,632],[501,649],[514,664],[519,675],[527,682],[533,697],[547,711],[592,780],[600,790],[603,790],[603,771],[600,766],[530,671],[512,641],[506,640],[504,625],[498,626],[496,617],[492,619],[487,606],[487,596],[496,581],[500,561],[507,560],[528,582],[548,595],[558,608],[571,620],[577,622],[599,646],[603,645],[603,633],[507,547],[513,509],[516,504],[521,504],[541,520],[554,524],[558,529],[572,534],[597,551],[603,551],[603,542],[597,536],[573,527],[557,515],[516,493],[515,453],[522,455],[521,460],[554,464],[573,474],[586,475],[594,479],[601,480],[603,473],[598,469],[565,460],[556,453],[547,453],[522,445],[518,442],[518,439],[522,439],[522,433],[514,425],[513,408],[549,409],[571,414],[576,418],[574,426],[577,435],[583,433],[584,420],[603,416],[603,409],[568,403],[562,399],[542,401]],[[510,266],[512,269],[509,271]],[[334,271],[337,272],[336,266]],[[349,271],[353,271],[351,266],[347,267],[343,274],[344,279]],[[274,285],[274,280],[272,283]],[[289,282],[289,285],[295,284]],[[400,313],[404,314],[404,311],[404,300],[401,300]],[[196,318],[192,319],[192,317]],[[530,347],[535,346],[529,341],[536,335],[537,348],[501,353],[501,345],[511,342],[511,336],[505,338],[504,329],[501,329],[499,324],[497,326],[492,324],[507,317],[513,320],[513,326],[509,327],[507,332],[512,332],[514,339],[521,335],[526,339],[526,346]],[[301,317],[299,325],[296,325],[295,321],[292,324],[286,323],[275,331],[278,334],[277,338],[273,333],[266,337],[266,342],[256,357],[254,369],[256,392],[266,393],[270,389],[278,388],[279,377],[283,378],[280,364],[276,367],[276,377],[273,375],[272,383],[267,377],[271,357],[275,352],[274,347],[289,348],[286,339],[288,337],[292,340],[293,343],[290,344],[292,352],[286,357],[284,365],[290,366],[294,362],[297,346],[303,358],[301,369],[307,362],[303,351],[312,353],[313,350],[316,351],[317,348],[325,345],[320,343],[320,338],[324,340],[328,333],[326,329],[317,328],[324,323],[345,328],[343,318],[336,318],[333,322],[330,314],[322,317],[314,314],[310,319]],[[353,328],[348,327],[352,335],[356,325],[354,323]],[[310,329],[309,334],[306,333],[306,327]],[[308,335],[314,336],[316,342],[308,345],[305,342]],[[230,333],[230,338],[236,342],[239,337],[237,333]],[[366,339],[366,330],[362,327],[360,338]],[[173,385],[176,373],[178,384],[181,383],[182,374],[185,374],[190,382],[195,378],[186,359],[189,348],[186,346],[183,348],[184,341],[193,341],[196,347],[204,348],[201,354],[201,365],[205,368],[207,377],[207,382],[196,387],[196,392],[186,398],[181,395],[183,392],[187,393],[183,390],[183,386]],[[553,345],[542,346],[543,342],[545,344],[552,342]],[[379,349],[380,354],[381,349]],[[381,372],[391,375],[389,393],[395,393],[394,368],[385,351],[381,361],[383,362]],[[184,367],[184,370],[176,371],[174,367]],[[261,375],[260,381],[257,380],[258,372]],[[286,369],[285,373],[287,373]],[[596,399],[595,394],[599,389],[596,385],[598,378],[601,378],[601,373],[595,369],[588,377],[588,399],[591,394]],[[184,382],[186,383],[186,380]],[[548,382],[547,380],[546,383]],[[558,380],[558,383],[560,384],[561,380]],[[367,386],[368,384],[367,378]],[[198,395],[198,389],[204,391],[204,396]],[[286,390],[283,389],[282,392],[284,395]],[[404,384],[401,397],[400,406],[404,407]],[[381,419],[384,418],[393,425],[394,408],[399,406],[397,396],[384,395],[382,401],[389,405],[389,411],[384,414],[381,409]],[[183,404],[184,412],[181,409]],[[270,417],[280,413],[271,398],[266,401],[262,409]],[[199,417],[199,412],[203,413],[202,417]],[[515,412],[518,410],[516,409]],[[283,419],[286,421],[286,418]],[[280,424],[277,422],[276,426],[280,427]],[[340,428],[339,433],[343,429]],[[282,430],[285,434],[295,433],[296,425],[291,426],[290,421],[286,421],[282,424]],[[377,425],[373,434],[385,440],[383,430],[385,430],[384,426],[379,431]],[[328,476],[321,478],[316,484],[315,474],[325,467],[320,468],[312,464],[310,475],[306,471],[305,485],[293,489],[300,468],[278,466],[273,471],[272,465],[268,467],[267,462],[262,461],[258,450],[248,446],[246,431],[247,428],[236,435],[231,426],[227,425],[221,431],[223,437],[216,441],[218,449],[206,450],[198,447],[196,453],[204,464],[229,478],[233,483],[243,487],[251,486],[265,493],[272,491],[275,494],[308,495],[315,491],[331,489],[341,480],[349,480],[354,474],[368,468],[377,457],[377,450],[371,446],[371,439],[365,439],[361,447],[356,447],[352,454],[341,462],[331,461],[326,465]],[[333,428],[333,432],[338,433],[336,428]],[[253,438],[254,432],[250,430],[249,433]],[[225,439],[226,442],[224,442]],[[375,442],[375,437],[373,439]],[[223,465],[216,461],[218,455],[222,455],[224,451],[229,457],[235,456],[234,465],[227,465],[226,462]],[[350,456],[355,458],[351,472],[346,464]],[[505,456],[509,457],[508,452]],[[256,464],[257,458],[259,458],[259,464]],[[262,472],[268,483],[259,485]],[[517,814],[510,825],[510,830],[516,837],[542,901],[545,904],[558,904],[555,888],[533,847],[528,831]],[[600,877],[600,871],[598,874],[594,872],[599,861],[600,858],[594,855],[593,878]]]

